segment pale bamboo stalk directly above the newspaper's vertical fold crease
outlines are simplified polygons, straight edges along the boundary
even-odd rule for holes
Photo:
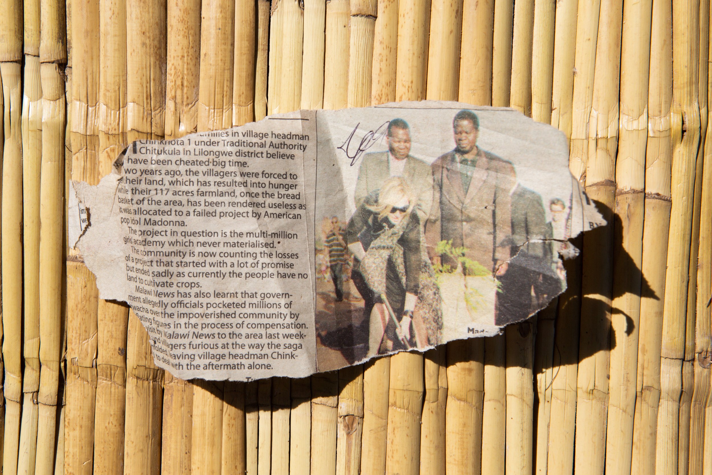
[[[326,0],[304,1],[302,109],[320,109],[324,102]]]

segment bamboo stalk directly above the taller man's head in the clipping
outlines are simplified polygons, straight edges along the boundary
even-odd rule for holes
[[[460,33],[462,41],[449,54],[461,53],[460,64],[450,70],[445,66],[439,73],[453,78],[458,75],[459,100],[471,104],[490,104],[492,102],[493,73],[493,31],[495,1],[461,2],[462,18],[459,25],[448,26]],[[456,38],[459,40],[460,38]],[[432,38],[431,38],[432,41]],[[460,51],[461,50],[461,51]],[[436,65],[437,67],[438,65]],[[450,72],[452,71],[452,72]]]

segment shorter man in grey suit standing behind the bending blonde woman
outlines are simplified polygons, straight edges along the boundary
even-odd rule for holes
[[[366,197],[390,177],[402,177],[418,197],[416,212],[421,224],[430,212],[433,174],[430,166],[410,155],[410,127],[403,119],[393,119],[386,134],[387,152],[364,155],[358,172],[354,201],[360,207]]]

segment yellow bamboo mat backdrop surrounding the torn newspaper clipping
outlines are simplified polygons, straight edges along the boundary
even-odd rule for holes
[[[16,474],[712,475],[709,0],[0,0],[0,450]],[[510,106],[609,225],[496,338],[177,380],[66,249],[132,140],[298,108]]]

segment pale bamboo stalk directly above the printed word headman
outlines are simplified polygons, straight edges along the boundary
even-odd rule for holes
[[[304,36],[304,12],[298,0],[281,0],[282,51],[281,79],[278,112],[297,110],[302,94],[302,43]]]

